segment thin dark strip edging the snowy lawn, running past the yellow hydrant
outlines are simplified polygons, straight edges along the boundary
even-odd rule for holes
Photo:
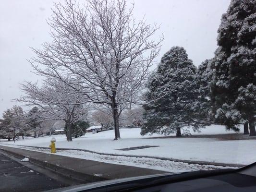
[[[6,144],[7,145],[7,144]],[[12,145],[12,144],[8,144]],[[49,149],[49,147],[37,147],[37,146],[29,146],[29,145],[19,145],[24,147],[34,147],[37,149]],[[77,151],[84,151],[88,153],[95,153],[98,155],[107,155],[107,156],[127,156],[127,157],[145,157],[145,158],[153,158],[153,159],[159,159],[159,160],[169,160],[169,161],[175,161],[175,162],[183,162],[183,163],[189,163],[189,164],[198,164],[198,165],[213,165],[213,166],[222,166],[222,167],[244,167],[245,165],[242,164],[228,164],[228,163],[216,163],[216,162],[207,162],[207,161],[192,161],[192,160],[181,160],[181,159],[173,159],[173,158],[166,158],[166,157],[156,157],[156,156],[136,156],[136,155],[119,155],[119,154],[109,154],[109,153],[99,153],[91,150],[86,149],[76,149],[76,148],[56,148],[56,150],[77,150]],[[58,155],[58,154],[56,154]]]

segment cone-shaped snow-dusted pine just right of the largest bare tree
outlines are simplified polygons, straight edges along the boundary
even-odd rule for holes
[[[200,121],[196,67],[184,48],[172,47],[161,59],[145,95],[145,122],[141,134],[176,132],[191,126],[194,131],[204,126]]]

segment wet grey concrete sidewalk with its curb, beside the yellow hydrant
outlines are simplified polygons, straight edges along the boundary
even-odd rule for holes
[[[0,145],[0,150],[19,158],[29,156],[31,163],[48,168],[58,174],[82,182],[95,182],[101,180],[167,173],[154,169],[116,165],[68,156],[58,156],[2,145]]]

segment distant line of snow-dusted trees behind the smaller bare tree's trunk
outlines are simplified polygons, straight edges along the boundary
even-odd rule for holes
[[[54,133],[56,120],[49,120],[37,107],[33,107],[27,113],[20,106],[13,106],[3,112],[0,119],[0,139],[18,139],[19,136],[33,136],[34,138]],[[72,137],[85,135],[89,127],[88,120],[79,120],[72,124]],[[63,127],[67,134],[67,126]],[[14,131],[15,130],[15,131]]]

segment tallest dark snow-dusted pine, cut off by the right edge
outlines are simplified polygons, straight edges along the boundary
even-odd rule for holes
[[[256,135],[252,126],[255,110],[248,113],[238,109],[234,102],[240,100],[240,88],[246,88],[248,84],[256,85],[255,10],[255,0],[232,0],[228,11],[222,15],[211,83],[216,121],[229,129],[237,129],[237,124],[249,121],[250,135]]]

